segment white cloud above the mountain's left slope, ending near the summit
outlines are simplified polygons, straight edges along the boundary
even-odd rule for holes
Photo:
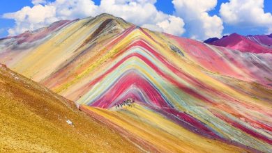
[[[61,19],[76,19],[95,15],[98,6],[90,0],[56,0],[47,2],[33,0],[34,6],[25,6],[15,13],[5,13],[3,18],[14,19],[15,26],[8,29],[9,35],[48,26]]]

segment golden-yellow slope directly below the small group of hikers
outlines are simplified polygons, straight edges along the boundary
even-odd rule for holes
[[[169,120],[170,114],[158,113],[148,106],[136,104],[131,108],[107,110],[82,105],[80,109],[151,152],[247,151],[230,143],[199,136],[184,128],[181,122]]]

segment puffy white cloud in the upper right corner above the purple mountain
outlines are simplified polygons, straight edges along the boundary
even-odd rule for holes
[[[220,15],[230,25],[266,27],[272,32],[272,15],[264,13],[264,0],[229,0],[221,4]]]

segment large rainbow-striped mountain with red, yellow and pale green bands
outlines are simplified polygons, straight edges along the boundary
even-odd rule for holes
[[[207,45],[108,14],[0,40],[0,63],[151,152],[270,152],[272,54]],[[128,98],[133,107],[116,108]]]

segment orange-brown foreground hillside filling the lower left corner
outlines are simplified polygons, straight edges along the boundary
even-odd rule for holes
[[[73,102],[1,64],[0,87],[0,152],[140,151]]]

